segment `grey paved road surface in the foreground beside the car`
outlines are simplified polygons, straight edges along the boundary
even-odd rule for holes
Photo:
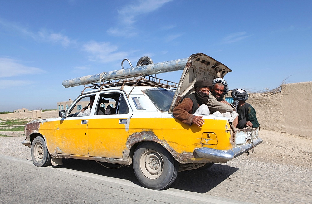
[[[180,183],[154,191],[141,187],[130,167],[107,169],[94,161],[68,159],[62,167],[39,168],[0,155],[0,203],[245,203],[182,190]]]

